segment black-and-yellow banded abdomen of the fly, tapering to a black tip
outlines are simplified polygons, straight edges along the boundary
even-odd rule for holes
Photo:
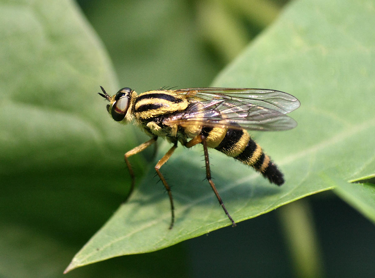
[[[207,145],[211,145],[211,148],[253,167],[274,184],[282,185],[284,183],[283,174],[276,164],[268,155],[264,154],[261,146],[251,139],[246,130],[221,129],[219,132],[211,127],[203,127],[201,134],[206,137]],[[210,138],[215,138],[216,142]]]

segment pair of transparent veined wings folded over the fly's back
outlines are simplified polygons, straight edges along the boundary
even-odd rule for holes
[[[190,100],[183,113],[164,120],[180,126],[200,125],[248,130],[288,130],[297,126],[287,113],[300,105],[290,94],[263,89],[189,88],[176,90]]]

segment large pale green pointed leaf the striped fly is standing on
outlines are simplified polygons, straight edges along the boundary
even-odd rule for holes
[[[217,190],[236,222],[342,187],[365,166],[373,172],[373,26],[374,1],[294,1],[217,77],[217,87],[273,88],[302,103],[291,115],[299,123],[296,129],[254,133],[285,173],[282,187],[210,152]],[[167,149],[163,146],[157,157]],[[198,147],[178,148],[161,169],[174,185],[172,230],[168,197],[161,184],[155,185],[150,169],[129,202],[87,242],[66,271],[114,256],[151,252],[230,225],[207,181],[201,181],[200,155]],[[366,194],[366,199],[374,200],[373,196]]]

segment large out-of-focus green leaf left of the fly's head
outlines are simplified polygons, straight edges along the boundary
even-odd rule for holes
[[[69,1],[46,2],[1,6],[9,27],[1,28],[0,52],[3,175],[19,173],[20,161],[23,172],[89,164],[104,157],[113,133],[92,101],[99,84],[116,84],[101,42]]]

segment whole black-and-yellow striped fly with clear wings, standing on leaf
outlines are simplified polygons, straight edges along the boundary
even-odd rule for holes
[[[236,223],[211,178],[208,148],[253,167],[271,183],[284,183],[283,174],[247,130],[275,131],[296,127],[296,121],[286,115],[300,106],[296,97],[282,91],[249,88],[160,89],[139,95],[130,88],[122,88],[113,96],[103,87],[101,89],[103,93],[99,94],[110,102],[107,111],[115,121],[135,121],[151,137],[124,155],[131,177],[129,195],[135,185],[129,157],[155,143],[158,137],[173,144],[155,166],[171,204],[169,229],[174,224],[174,204],[171,188],[160,167],[171,157],[178,142],[187,148],[202,144],[207,181],[233,226]]]

